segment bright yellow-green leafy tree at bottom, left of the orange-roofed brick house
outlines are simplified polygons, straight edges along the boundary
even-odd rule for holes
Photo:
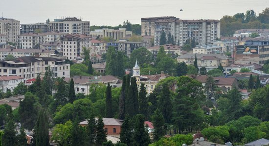
[[[56,124],[52,131],[51,140],[59,146],[69,146],[71,143],[72,122],[69,120],[65,124]]]

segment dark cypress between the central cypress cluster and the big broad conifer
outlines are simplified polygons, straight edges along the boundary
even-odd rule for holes
[[[158,105],[164,117],[165,123],[170,123],[172,118],[172,102],[169,87],[166,83],[162,85]]]

